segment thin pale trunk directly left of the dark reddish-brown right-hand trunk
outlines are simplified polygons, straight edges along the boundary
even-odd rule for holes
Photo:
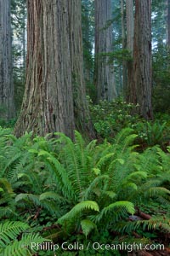
[[[134,38],[134,17],[133,0],[126,1],[126,20],[127,20],[127,49],[130,52],[132,60],[127,61],[127,88],[126,99],[129,102],[130,84],[133,83],[133,38]]]

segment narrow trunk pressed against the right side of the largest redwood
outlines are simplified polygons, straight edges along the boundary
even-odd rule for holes
[[[82,5],[81,0],[71,0],[68,3],[75,124],[78,131],[82,131],[88,137],[94,137],[94,129],[89,117],[83,78]]]

